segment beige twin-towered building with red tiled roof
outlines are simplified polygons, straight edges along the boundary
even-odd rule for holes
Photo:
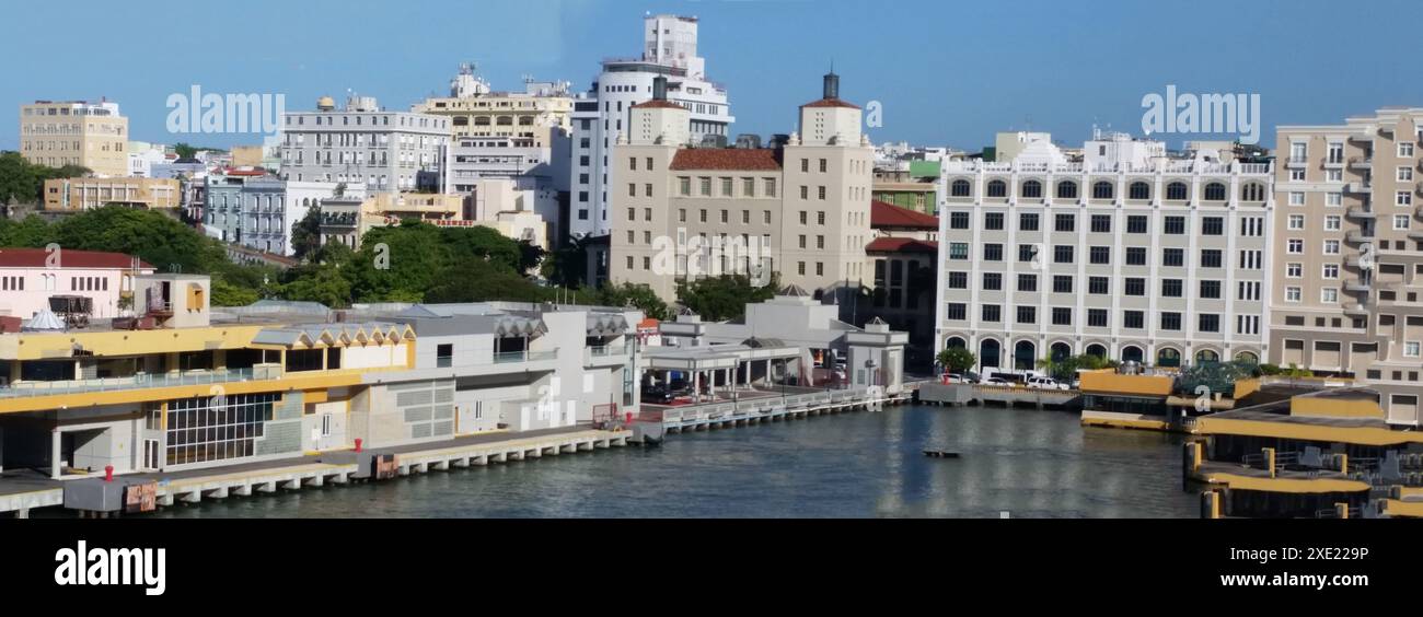
[[[612,151],[613,283],[675,300],[679,280],[760,270],[848,300],[869,277],[874,148],[837,75],[800,107],[800,132],[780,148],[690,148],[690,111],[660,78],[630,111]]]

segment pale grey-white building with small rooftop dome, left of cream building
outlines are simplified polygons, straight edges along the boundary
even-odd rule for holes
[[[381,109],[371,97],[330,97],[316,111],[282,119],[283,181],[346,182],[367,191],[414,191],[437,185],[450,142],[450,118]]]

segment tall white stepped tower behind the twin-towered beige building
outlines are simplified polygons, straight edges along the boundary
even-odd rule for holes
[[[687,109],[686,132],[694,142],[710,136],[724,145],[736,119],[726,88],[707,80],[706,60],[697,55],[696,17],[645,17],[642,48],[636,58],[605,60],[592,90],[573,101],[568,226],[576,237],[613,230],[609,154],[619,135],[632,131],[633,105],[652,100],[655,78],[663,77],[667,100]]]

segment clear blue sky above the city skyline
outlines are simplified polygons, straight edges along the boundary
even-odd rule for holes
[[[1423,105],[1423,3],[1409,0],[6,1],[0,149],[17,148],[18,105],[36,98],[104,95],[134,139],[231,145],[255,139],[168,134],[168,95],[199,84],[309,109],[351,88],[404,109],[464,60],[499,90],[532,74],[582,91],[601,58],[640,51],[643,11],[702,18],[733,132],[791,131],[832,60],[844,98],[882,102],[877,144],[978,149],[1025,128],[1072,144],[1094,122],[1140,134],[1141,97],[1167,84],[1258,92],[1269,146],[1279,124]]]

